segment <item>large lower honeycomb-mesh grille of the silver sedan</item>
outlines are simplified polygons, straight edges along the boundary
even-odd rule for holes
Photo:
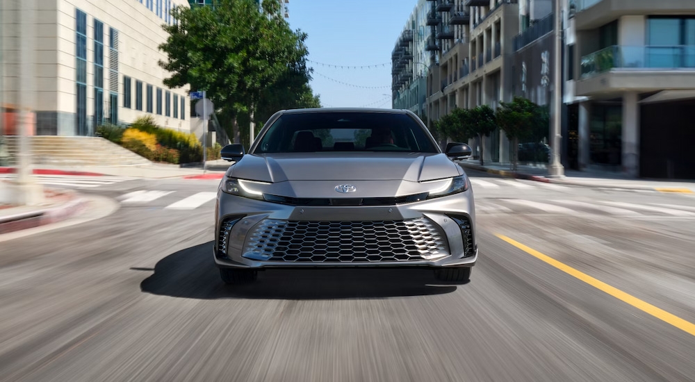
[[[289,263],[377,263],[445,256],[445,240],[425,218],[383,222],[266,219],[247,237],[244,255]]]

